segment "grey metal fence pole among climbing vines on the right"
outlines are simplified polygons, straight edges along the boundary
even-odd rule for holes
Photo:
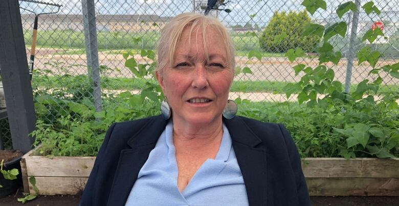
[[[345,92],[349,93],[350,87],[350,78],[352,76],[352,66],[353,66],[353,58],[354,58],[354,40],[356,39],[356,33],[358,31],[358,21],[359,21],[359,9],[360,9],[360,0],[354,1],[356,4],[356,11],[353,12],[353,21],[350,32],[350,40],[349,40],[349,50],[348,50],[348,63],[346,65],[346,78],[345,78]]]

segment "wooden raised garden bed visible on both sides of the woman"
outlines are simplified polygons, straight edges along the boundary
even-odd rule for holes
[[[32,156],[21,159],[25,192],[35,194],[28,177],[36,178],[41,195],[80,194],[95,157]],[[303,158],[311,196],[399,196],[399,158]]]

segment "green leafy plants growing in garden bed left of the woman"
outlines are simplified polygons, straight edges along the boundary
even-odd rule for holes
[[[104,99],[103,111],[96,112],[93,102],[77,103],[43,95],[35,103],[38,121],[34,146],[41,144],[38,155],[96,156],[105,132],[113,122],[158,115],[160,103],[139,94],[123,92]],[[55,109],[49,118],[48,109]],[[62,112],[60,112],[62,111]]]

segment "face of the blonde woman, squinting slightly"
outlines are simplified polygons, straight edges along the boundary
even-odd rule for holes
[[[189,44],[189,35],[191,41]],[[183,30],[172,66],[163,68],[157,79],[172,108],[173,121],[207,124],[221,118],[233,80],[221,36],[207,29],[209,62],[201,30]]]

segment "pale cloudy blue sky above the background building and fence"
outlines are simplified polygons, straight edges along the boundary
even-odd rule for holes
[[[81,0],[42,0],[63,5],[60,14],[81,14]],[[361,5],[367,1],[360,1]],[[97,14],[156,14],[159,16],[175,16],[183,12],[193,11],[193,0],[94,0]],[[226,25],[241,24],[247,22],[258,24],[261,27],[267,24],[275,11],[300,11],[304,7],[300,5],[302,0],[230,0],[226,8],[231,9],[231,13],[224,11],[218,13],[218,18]],[[313,15],[313,19],[331,19],[337,21],[335,14],[336,8],[346,1],[330,0],[327,2],[327,10],[318,9]],[[399,0],[374,0],[378,7],[383,11],[384,20],[398,21],[399,18]],[[50,11],[51,7],[37,5],[34,3],[20,2],[21,7],[29,8],[35,11]],[[392,12],[396,11],[396,12]],[[22,13],[23,11],[21,11]],[[388,13],[386,13],[388,12]],[[251,18],[253,16],[253,18]],[[361,16],[360,20],[379,20],[378,17]]]

